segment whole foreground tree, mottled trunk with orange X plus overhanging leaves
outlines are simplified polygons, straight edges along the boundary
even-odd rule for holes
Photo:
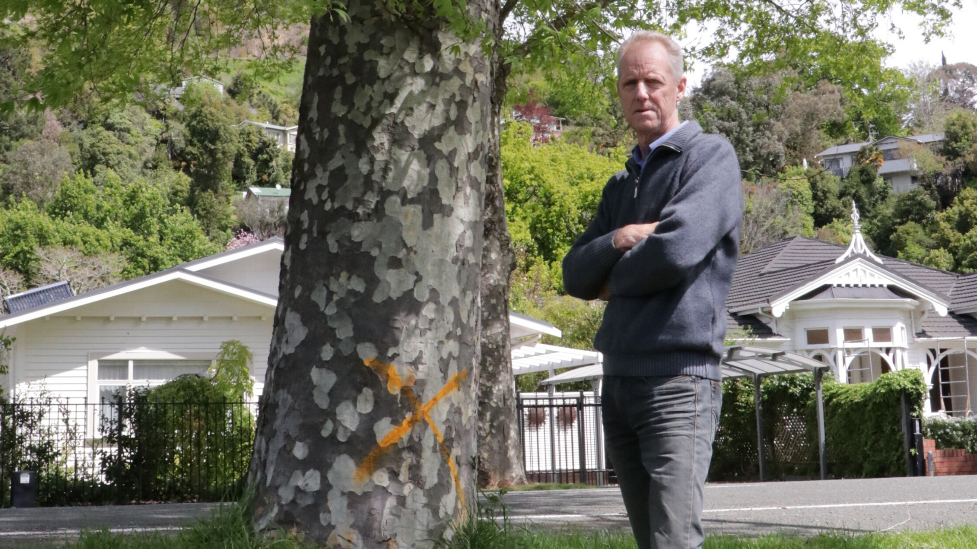
[[[743,64],[757,70],[772,58],[857,62],[860,44],[877,45],[871,31],[879,6],[846,0],[850,9],[835,19],[828,5],[815,0],[771,11],[768,1],[750,0],[735,9],[716,2],[672,13],[671,4],[634,10],[618,0],[353,1],[342,21],[335,13],[314,19],[252,462],[258,527],[296,528],[337,546],[426,547],[475,505],[475,425],[513,414],[504,382],[513,254],[498,134],[511,70],[592,59],[649,21],[674,21],[664,28],[671,31],[714,21],[719,39],[700,53],[722,57],[735,44]],[[27,7],[17,6],[0,10],[3,21],[21,21]],[[131,33],[115,38],[103,21],[119,17],[106,6],[114,4],[96,3],[103,12],[96,10],[88,31],[105,41],[91,43],[108,51],[131,46]],[[931,28],[949,19],[942,4],[881,8],[897,6],[925,16]],[[39,38],[49,44],[70,44],[71,32],[86,36],[61,5],[35,9],[32,21],[45,26]],[[665,14],[671,17],[658,17]],[[195,28],[179,18],[172,27]],[[158,39],[179,50],[166,36]],[[856,57],[846,53],[853,45]],[[61,86],[45,94],[52,101],[70,87],[52,77],[59,63],[102,59],[64,46],[51,52],[51,69],[38,82]],[[144,68],[132,60],[130,54],[113,64]],[[817,76],[814,82],[824,79]],[[863,114],[884,117],[875,108],[883,103],[869,100],[859,105]],[[496,388],[488,387],[483,402],[488,420],[475,409],[476,373]],[[500,436],[516,443],[511,431]],[[511,475],[517,464],[510,461],[502,456],[489,465]]]

